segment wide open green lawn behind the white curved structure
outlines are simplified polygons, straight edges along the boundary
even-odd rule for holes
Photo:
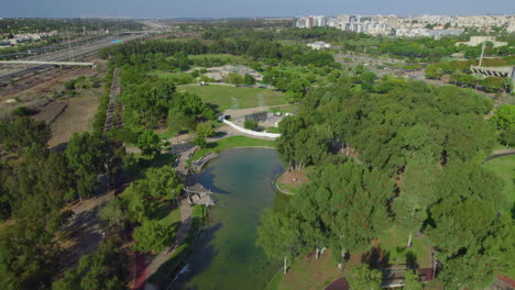
[[[177,88],[177,90],[197,94],[202,99],[202,102],[216,105],[220,112],[227,109],[248,109],[288,103],[282,92],[260,88],[209,85],[185,86]]]

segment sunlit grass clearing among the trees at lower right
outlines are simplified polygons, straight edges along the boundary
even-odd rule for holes
[[[382,250],[385,252],[387,256],[393,257],[397,248],[406,247],[408,234],[408,231],[402,230],[394,225],[391,228],[384,231],[379,236],[379,246]],[[417,236],[416,233],[413,233],[412,243],[413,248],[409,250],[415,254],[418,266],[420,268],[431,267],[431,244],[429,238],[426,236]],[[395,264],[394,260],[390,260],[388,263]],[[399,264],[404,264],[404,261],[401,261]]]

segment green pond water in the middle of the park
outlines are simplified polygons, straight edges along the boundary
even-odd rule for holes
[[[274,204],[274,176],[283,166],[273,149],[239,148],[220,154],[199,176],[216,192],[209,223],[188,258],[188,271],[169,289],[264,289],[277,271],[255,246],[256,227]]]

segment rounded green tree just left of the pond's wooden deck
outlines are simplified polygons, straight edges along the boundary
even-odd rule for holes
[[[146,180],[154,198],[175,200],[184,190],[184,178],[172,165],[149,169]]]

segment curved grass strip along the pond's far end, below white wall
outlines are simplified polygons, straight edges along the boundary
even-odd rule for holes
[[[200,148],[195,152],[193,159],[197,160],[204,155],[216,152],[220,153],[224,149],[237,148],[237,147],[274,147],[275,141],[270,140],[258,140],[246,136],[231,136],[227,138],[219,140],[208,144],[207,148]]]

